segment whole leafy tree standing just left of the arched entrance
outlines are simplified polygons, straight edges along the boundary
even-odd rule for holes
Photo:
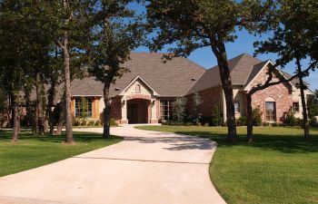
[[[94,44],[89,49],[88,72],[104,83],[104,138],[110,137],[110,85],[129,70],[124,62],[144,35],[139,16],[127,7],[131,1],[101,0],[94,15]]]

